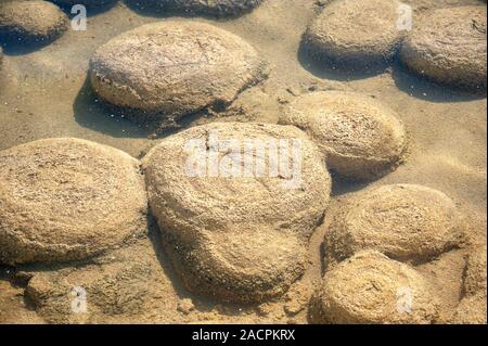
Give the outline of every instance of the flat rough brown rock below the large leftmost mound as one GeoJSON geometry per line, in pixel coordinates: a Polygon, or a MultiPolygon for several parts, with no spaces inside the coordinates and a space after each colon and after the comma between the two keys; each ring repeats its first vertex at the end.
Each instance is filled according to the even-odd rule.
{"type": "Polygon", "coordinates": [[[178,295],[153,246],[141,236],[82,266],[28,272],[25,295],[50,323],[175,323],[178,295]]]}

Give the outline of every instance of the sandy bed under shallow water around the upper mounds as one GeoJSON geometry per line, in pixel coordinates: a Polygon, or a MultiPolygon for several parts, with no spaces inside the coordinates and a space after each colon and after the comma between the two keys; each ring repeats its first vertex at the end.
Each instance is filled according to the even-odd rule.
{"type": "MultiPolygon", "coordinates": [[[[415,0],[410,2],[415,3],[415,0]]],[[[435,0],[416,3],[421,7],[441,5],[435,0]]],[[[442,3],[451,5],[455,1],[442,3]]],[[[299,50],[301,34],[317,11],[312,0],[267,0],[242,17],[197,18],[249,41],[270,62],[271,72],[268,80],[243,92],[231,106],[231,110],[245,112],[192,118],[184,126],[216,119],[277,123],[283,100],[292,100],[310,90],[350,90],[369,94],[398,113],[411,140],[406,164],[371,185],[401,182],[438,189],[459,205],[470,221],[472,235],[486,242],[486,93],[460,92],[421,80],[397,63],[365,75],[317,68],[299,50]]],[[[140,157],[155,145],[166,133],[155,137],[151,128],[119,118],[101,106],[87,84],[87,69],[93,51],[112,37],[167,16],[120,1],[92,13],[86,31],[68,30],[53,43],[34,51],[7,49],[0,71],[0,150],[43,138],[76,137],[140,157]]],[[[333,194],[339,200],[342,194],[363,187],[334,180],[333,194]]],[[[312,238],[313,266],[307,271],[305,281],[320,277],[323,232],[319,229],[312,238]]],[[[453,262],[457,260],[459,258],[453,262]]],[[[176,291],[181,292],[179,284],[175,285],[176,291]]],[[[446,300],[449,299],[455,299],[452,293],[446,293],[446,300]]],[[[218,315],[216,319],[233,320],[222,316],[218,315]]],[[[270,319],[283,320],[277,316],[270,319]]],[[[178,321],[178,317],[174,318],[178,321]]],[[[256,315],[237,320],[240,318],[260,320],[256,315]]],[[[304,319],[300,317],[298,321],[304,319]]]]}

